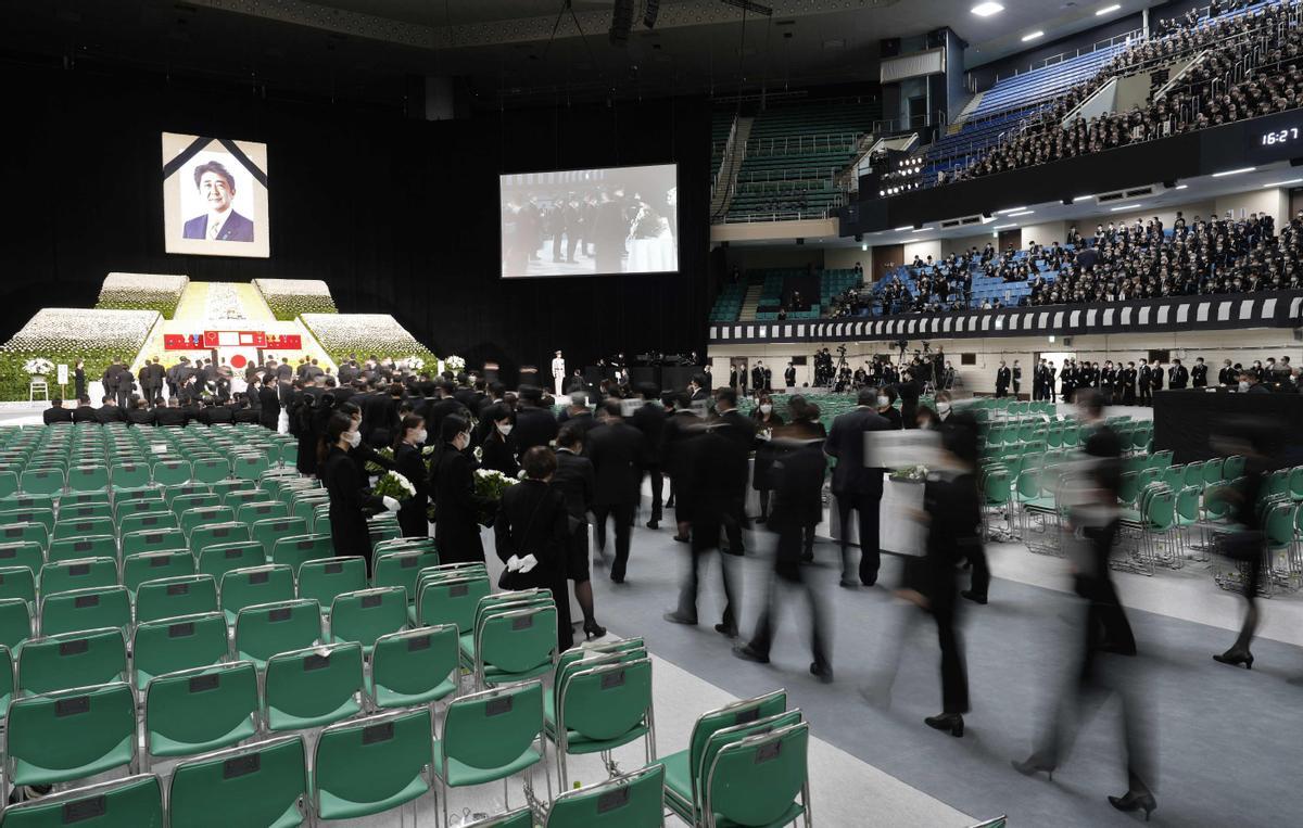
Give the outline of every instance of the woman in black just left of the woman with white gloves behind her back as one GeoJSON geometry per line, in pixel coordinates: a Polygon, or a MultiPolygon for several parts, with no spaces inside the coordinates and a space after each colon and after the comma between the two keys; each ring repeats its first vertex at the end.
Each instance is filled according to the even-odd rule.
{"type": "Polygon", "coordinates": [[[439,560],[444,564],[483,562],[480,514],[489,504],[476,495],[474,471],[463,453],[470,443],[470,422],[460,414],[450,414],[443,418],[442,430],[430,463],[429,484],[439,560]]]}

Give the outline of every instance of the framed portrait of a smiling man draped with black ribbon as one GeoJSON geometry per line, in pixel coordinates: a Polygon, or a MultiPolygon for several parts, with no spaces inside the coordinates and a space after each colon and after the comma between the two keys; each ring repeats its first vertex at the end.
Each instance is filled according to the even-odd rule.
{"type": "Polygon", "coordinates": [[[267,214],[267,145],[163,133],[168,253],[266,259],[267,214]]]}

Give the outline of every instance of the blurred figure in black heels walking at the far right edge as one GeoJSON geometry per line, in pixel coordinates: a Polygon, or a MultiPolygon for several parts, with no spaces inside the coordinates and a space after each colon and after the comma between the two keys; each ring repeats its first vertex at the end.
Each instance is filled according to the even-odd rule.
{"type": "Polygon", "coordinates": [[[1213,659],[1231,667],[1243,664],[1246,669],[1253,669],[1250,644],[1253,643],[1253,633],[1257,630],[1257,591],[1261,586],[1265,557],[1259,495],[1263,491],[1263,480],[1270,470],[1270,457],[1277,450],[1278,437],[1272,423],[1248,418],[1218,426],[1212,436],[1213,449],[1218,454],[1239,454],[1244,458],[1243,474],[1234,483],[1209,491],[1208,497],[1214,501],[1225,500],[1234,509],[1234,519],[1239,529],[1222,538],[1221,551],[1243,564],[1240,594],[1248,604],[1235,643],[1213,659]]]}

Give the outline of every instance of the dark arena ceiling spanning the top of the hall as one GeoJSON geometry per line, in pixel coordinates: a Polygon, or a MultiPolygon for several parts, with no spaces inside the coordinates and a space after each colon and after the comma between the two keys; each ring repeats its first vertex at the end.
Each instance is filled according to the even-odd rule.
{"type": "Polygon", "coordinates": [[[481,102],[753,94],[877,79],[883,38],[950,26],[969,62],[1081,31],[1143,5],[1117,0],[766,0],[771,17],[726,0],[633,0],[625,47],[614,0],[0,0],[0,48],[111,60],[310,89],[401,95],[405,76],[466,79],[481,102]],[[1111,3],[1110,3],[1111,5],[1111,3]]]}

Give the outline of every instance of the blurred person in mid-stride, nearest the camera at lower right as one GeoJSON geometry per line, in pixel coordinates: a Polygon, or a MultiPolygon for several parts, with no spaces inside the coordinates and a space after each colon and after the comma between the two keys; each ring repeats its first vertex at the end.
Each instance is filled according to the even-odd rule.
{"type": "Polygon", "coordinates": [[[1119,811],[1144,811],[1148,820],[1149,812],[1158,805],[1145,781],[1154,779],[1154,768],[1152,739],[1144,732],[1144,697],[1117,681],[1118,673],[1123,670],[1123,661],[1101,657],[1101,654],[1136,654],[1131,625],[1109,577],[1109,553],[1118,535],[1122,449],[1117,434],[1104,424],[1104,400],[1098,392],[1083,389],[1076,394],[1076,401],[1083,428],[1089,431],[1085,440],[1089,462],[1084,470],[1083,486],[1075,492],[1075,504],[1068,513],[1068,529],[1084,559],[1075,564],[1076,594],[1087,601],[1084,646],[1075,686],[1065,689],[1059,695],[1036,751],[1025,762],[1015,760],[1012,764],[1024,776],[1044,771],[1053,779],[1054,769],[1072,749],[1080,720],[1117,694],[1122,702],[1127,792],[1121,797],[1109,797],[1109,803],[1119,811]],[[1089,703],[1092,710],[1078,715],[1083,703],[1089,703]]]}

